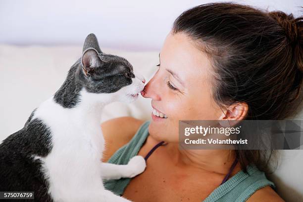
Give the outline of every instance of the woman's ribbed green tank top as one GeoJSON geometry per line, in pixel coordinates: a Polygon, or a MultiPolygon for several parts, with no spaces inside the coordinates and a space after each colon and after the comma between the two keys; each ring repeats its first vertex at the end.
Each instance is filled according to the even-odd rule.
{"type": "MultiPolygon", "coordinates": [[[[130,142],[117,150],[107,162],[127,164],[132,157],[136,156],[149,135],[150,122],[145,121],[130,142]]],[[[103,182],[105,189],[122,196],[130,180],[131,178],[121,178],[103,182]]],[[[203,202],[245,202],[255,191],[267,185],[275,189],[274,183],[266,178],[264,172],[259,171],[254,165],[249,165],[247,173],[239,171],[210,193],[203,202]]]]}

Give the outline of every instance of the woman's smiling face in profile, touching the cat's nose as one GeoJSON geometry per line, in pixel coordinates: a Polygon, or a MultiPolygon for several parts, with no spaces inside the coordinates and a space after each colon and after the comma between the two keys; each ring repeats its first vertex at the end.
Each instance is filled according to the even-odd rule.
{"type": "Polygon", "coordinates": [[[218,120],[222,114],[211,96],[212,67],[206,54],[183,33],[168,34],[159,60],[143,96],[151,98],[152,108],[167,118],[152,113],[149,132],[156,140],[178,143],[179,120],[218,120]]]}

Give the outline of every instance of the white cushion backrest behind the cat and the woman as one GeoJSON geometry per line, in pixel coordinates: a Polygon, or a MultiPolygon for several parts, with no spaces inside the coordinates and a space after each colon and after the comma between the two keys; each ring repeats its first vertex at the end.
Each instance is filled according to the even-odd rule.
{"type": "MultiPolygon", "coordinates": [[[[135,73],[149,81],[156,71],[158,51],[128,52],[102,49],[125,57],[135,73]]],[[[63,83],[67,71],[81,57],[81,46],[9,46],[0,45],[0,142],[21,129],[31,112],[48,99],[63,83]]],[[[302,105],[301,108],[302,109],[302,105]]],[[[111,103],[103,111],[101,121],[131,116],[151,119],[151,100],[139,95],[131,104],[111,103]]],[[[289,119],[303,119],[303,111],[289,119]]],[[[303,201],[303,150],[281,151],[280,166],[270,179],[278,193],[289,202],[303,201]]]]}

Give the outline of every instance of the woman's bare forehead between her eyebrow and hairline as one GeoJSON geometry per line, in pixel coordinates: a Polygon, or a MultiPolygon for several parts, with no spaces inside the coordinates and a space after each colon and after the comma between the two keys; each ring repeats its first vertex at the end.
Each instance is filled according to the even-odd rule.
{"type": "Polygon", "coordinates": [[[168,34],[159,54],[161,66],[180,75],[183,81],[206,79],[211,69],[206,53],[183,34],[168,34]]]}

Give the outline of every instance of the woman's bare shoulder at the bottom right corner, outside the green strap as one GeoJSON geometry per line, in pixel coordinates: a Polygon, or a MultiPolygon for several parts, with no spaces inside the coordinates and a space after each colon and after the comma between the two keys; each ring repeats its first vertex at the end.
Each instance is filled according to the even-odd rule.
{"type": "Polygon", "coordinates": [[[285,202],[270,186],[257,190],[247,202],[285,202]]]}

